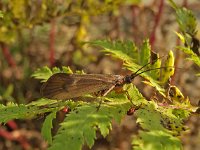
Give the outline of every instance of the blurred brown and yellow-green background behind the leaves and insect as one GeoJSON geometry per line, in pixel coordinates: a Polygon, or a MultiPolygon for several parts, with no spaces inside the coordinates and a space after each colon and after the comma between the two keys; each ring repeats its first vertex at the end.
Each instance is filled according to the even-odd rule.
{"type": "MultiPolygon", "coordinates": [[[[192,10],[199,22],[199,0],[175,2],[192,10]]],[[[161,55],[172,49],[175,67],[181,68],[176,70],[173,84],[193,105],[200,100],[200,78],[195,76],[200,69],[175,50],[181,44],[174,32],[179,29],[174,10],[166,0],[1,0],[0,10],[1,104],[27,104],[40,98],[41,83],[31,74],[43,66],[122,74],[122,62],[105,56],[97,47],[82,44],[96,39],[132,40],[140,46],[149,38],[152,50],[161,55]]],[[[136,84],[145,96],[150,96],[140,80],[136,84]]],[[[12,120],[0,126],[0,149],[46,149],[40,134],[43,120],[12,120]]],[[[186,150],[200,148],[199,120],[192,116],[186,121],[191,130],[180,137],[186,150]]],[[[131,149],[131,137],[137,132],[134,117],[127,116],[121,125],[113,122],[106,139],[99,135],[93,149],[131,149]]]]}

